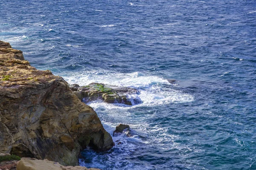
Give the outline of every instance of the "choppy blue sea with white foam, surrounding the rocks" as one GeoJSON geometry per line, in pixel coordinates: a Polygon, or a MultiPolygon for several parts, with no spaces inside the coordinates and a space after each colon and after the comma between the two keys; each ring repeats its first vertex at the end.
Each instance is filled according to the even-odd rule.
{"type": "Polygon", "coordinates": [[[69,83],[140,90],[139,105],[89,103],[133,137],[82,166],[256,169],[255,0],[0,0],[0,40],[69,83]]]}

